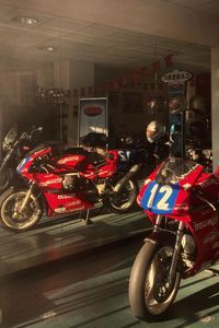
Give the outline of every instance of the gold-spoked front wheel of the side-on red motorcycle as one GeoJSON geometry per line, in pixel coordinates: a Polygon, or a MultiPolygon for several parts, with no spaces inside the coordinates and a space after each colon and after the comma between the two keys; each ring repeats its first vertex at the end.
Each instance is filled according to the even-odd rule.
{"type": "Polygon", "coordinates": [[[42,216],[43,204],[33,194],[22,209],[27,190],[5,191],[1,196],[0,222],[1,225],[14,232],[22,232],[35,225],[42,216]]]}

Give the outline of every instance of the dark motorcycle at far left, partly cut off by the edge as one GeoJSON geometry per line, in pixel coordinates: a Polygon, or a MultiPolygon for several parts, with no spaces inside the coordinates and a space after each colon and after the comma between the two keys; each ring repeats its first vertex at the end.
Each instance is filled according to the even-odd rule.
{"type": "Polygon", "coordinates": [[[19,162],[34,147],[42,130],[42,127],[33,128],[30,132],[19,134],[16,124],[9,130],[2,142],[5,155],[0,162],[0,192],[14,184],[19,162]]]}

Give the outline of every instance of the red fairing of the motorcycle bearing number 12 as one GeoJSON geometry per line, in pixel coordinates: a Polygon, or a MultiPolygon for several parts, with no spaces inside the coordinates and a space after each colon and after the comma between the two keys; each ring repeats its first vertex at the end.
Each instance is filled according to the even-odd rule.
{"type": "MultiPolygon", "coordinates": [[[[159,167],[146,179],[137,200],[140,206],[142,206],[142,201],[147,203],[149,199],[146,199],[147,190],[150,190],[151,184],[155,184],[158,172],[159,167]]],[[[185,177],[182,177],[180,181],[172,185],[171,188],[176,188],[177,190],[174,191],[176,197],[171,211],[168,213],[164,211],[163,213],[162,211],[159,212],[171,220],[184,222],[191,231],[197,246],[196,262],[189,272],[191,276],[195,274],[204,266],[207,266],[208,262],[217,261],[219,257],[219,218],[217,208],[219,175],[217,172],[216,174],[206,173],[201,165],[197,165],[185,177]]],[[[165,185],[163,186],[165,187],[165,185]]],[[[148,194],[149,197],[151,192],[152,189],[148,194]]],[[[146,208],[145,211],[152,224],[154,224],[158,212],[153,208],[151,210],[146,208]]]]}

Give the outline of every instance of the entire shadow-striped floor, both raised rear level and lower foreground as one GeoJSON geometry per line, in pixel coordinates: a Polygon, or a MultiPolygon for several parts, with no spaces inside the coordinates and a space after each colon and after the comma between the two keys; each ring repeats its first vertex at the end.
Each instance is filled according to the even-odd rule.
{"type": "Polygon", "coordinates": [[[0,230],[0,327],[219,327],[219,277],[206,271],[182,281],[165,321],[131,314],[130,268],[151,226],[141,211],[94,215],[89,226],[47,220],[21,234],[0,230]]]}

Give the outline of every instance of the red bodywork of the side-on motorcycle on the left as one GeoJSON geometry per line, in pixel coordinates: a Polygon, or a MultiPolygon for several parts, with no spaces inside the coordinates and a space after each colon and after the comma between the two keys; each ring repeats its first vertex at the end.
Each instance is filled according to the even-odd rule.
{"type": "Polygon", "coordinates": [[[66,175],[82,181],[108,179],[116,173],[117,164],[117,151],[110,151],[106,161],[95,166],[89,161],[85,152],[51,156],[51,148],[42,145],[20,163],[18,172],[42,190],[47,203],[47,215],[50,216],[88,210],[94,206],[94,202],[90,202],[84,196],[83,185],[81,190],[69,191],[64,188],[66,175]]]}

